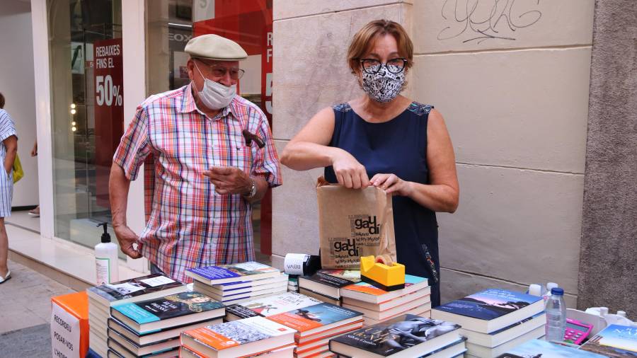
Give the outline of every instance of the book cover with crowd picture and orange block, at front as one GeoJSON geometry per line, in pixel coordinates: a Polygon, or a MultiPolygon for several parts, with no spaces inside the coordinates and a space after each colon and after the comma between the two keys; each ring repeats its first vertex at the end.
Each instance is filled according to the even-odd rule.
{"type": "Polygon", "coordinates": [[[291,328],[268,321],[263,317],[246,318],[218,325],[207,325],[195,330],[187,330],[183,335],[214,348],[224,350],[271,337],[294,333],[291,328]]]}

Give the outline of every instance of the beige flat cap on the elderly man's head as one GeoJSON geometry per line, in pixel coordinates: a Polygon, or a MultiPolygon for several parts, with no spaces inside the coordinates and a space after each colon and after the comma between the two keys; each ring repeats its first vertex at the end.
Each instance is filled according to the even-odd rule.
{"type": "Polygon", "coordinates": [[[184,51],[190,54],[190,57],[218,61],[240,61],[248,58],[248,54],[238,43],[214,34],[191,38],[184,51]]]}

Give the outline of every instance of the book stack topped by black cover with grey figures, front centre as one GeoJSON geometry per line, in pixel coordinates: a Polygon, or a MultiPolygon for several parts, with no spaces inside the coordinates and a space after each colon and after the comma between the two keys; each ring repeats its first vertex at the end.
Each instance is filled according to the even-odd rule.
{"type": "Polygon", "coordinates": [[[461,357],[466,352],[459,325],[405,315],[335,337],[331,352],[356,358],[461,357]]]}

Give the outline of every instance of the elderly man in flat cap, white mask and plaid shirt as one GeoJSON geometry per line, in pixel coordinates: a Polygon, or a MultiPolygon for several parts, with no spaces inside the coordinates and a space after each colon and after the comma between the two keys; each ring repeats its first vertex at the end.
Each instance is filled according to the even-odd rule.
{"type": "Polygon", "coordinates": [[[268,120],[236,95],[246,52],[217,35],[194,37],[185,52],[190,83],[139,105],[109,189],[122,252],[190,282],[189,268],[254,260],[251,205],[282,182],[268,120]],[[137,236],[126,204],[144,161],[147,225],[137,236]]]}

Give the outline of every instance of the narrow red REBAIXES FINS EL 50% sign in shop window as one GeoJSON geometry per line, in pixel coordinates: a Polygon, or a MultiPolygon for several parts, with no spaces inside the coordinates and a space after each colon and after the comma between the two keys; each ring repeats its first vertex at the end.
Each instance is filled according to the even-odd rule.
{"type": "Polygon", "coordinates": [[[122,39],[93,43],[95,81],[95,164],[98,205],[110,207],[108,176],[124,132],[122,39]]]}

